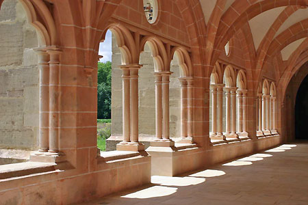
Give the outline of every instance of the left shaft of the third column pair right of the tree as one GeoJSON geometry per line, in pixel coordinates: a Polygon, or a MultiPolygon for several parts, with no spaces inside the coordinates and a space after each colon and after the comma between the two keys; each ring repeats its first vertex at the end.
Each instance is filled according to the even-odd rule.
{"type": "Polygon", "coordinates": [[[185,78],[179,78],[181,83],[181,137],[188,137],[188,88],[185,78]]]}

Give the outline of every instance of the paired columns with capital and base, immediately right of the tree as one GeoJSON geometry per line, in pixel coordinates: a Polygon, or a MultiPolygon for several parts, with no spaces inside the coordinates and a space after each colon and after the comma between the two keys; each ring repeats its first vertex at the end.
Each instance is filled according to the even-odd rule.
{"type": "Polygon", "coordinates": [[[138,139],[138,72],[141,66],[131,64],[120,66],[123,82],[123,141],[116,150],[141,151],[144,145],[138,139]]]}

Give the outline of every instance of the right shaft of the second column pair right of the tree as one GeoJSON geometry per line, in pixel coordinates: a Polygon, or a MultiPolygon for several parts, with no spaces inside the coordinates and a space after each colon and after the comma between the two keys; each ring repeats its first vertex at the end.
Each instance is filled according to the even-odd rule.
{"type": "Polygon", "coordinates": [[[171,141],[169,136],[169,77],[172,72],[162,72],[163,141],[171,141]]]}

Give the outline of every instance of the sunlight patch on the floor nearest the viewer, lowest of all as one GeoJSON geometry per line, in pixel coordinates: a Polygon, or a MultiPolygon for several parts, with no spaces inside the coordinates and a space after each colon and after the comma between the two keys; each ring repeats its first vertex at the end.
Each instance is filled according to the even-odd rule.
{"type": "Polygon", "coordinates": [[[154,186],[154,187],[149,187],[147,189],[142,189],[140,191],[136,191],[134,193],[129,193],[121,197],[136,198],[136,199],[149,199],[153,197],[163,197],[166,195],[171,195],[175,192],[177,192],[177,188],[174,188],[174,187],[154,186]]]}

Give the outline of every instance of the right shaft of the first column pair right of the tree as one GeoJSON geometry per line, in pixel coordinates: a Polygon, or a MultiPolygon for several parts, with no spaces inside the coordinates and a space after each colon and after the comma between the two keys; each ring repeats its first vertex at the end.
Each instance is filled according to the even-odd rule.
{"type": "Polygon", "coordinates": [[[131,144],[138,144],[138,72],[140,66],[130,66],[131,82],[131,144]]]}

